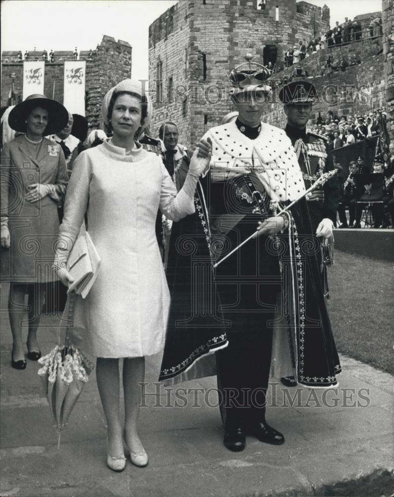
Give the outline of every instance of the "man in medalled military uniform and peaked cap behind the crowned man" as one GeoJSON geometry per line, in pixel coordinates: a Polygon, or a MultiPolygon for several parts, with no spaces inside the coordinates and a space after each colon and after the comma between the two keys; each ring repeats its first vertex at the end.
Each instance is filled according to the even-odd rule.
{"type": "MultiPolygon", "coordinates": [[[[300,71],[297,71],[297,74],[299,73],[300,71]]],[[[334,169],[327,139],[306,129],[312,105],[317,99],[316,88],[300,76],[280,90],[279,99],[284,104],[283,109],[287,116],[285,132],[298,158],[305,189],[308,189],[321,174],[334,169]]],[[[310,193],[307,200],[315,236],[322,239],[330,238],[339,202],[336,176],[310,193]]],[[[293,376],[282,377],[281,381],[286,386],[297,384],[293,376]]]]}

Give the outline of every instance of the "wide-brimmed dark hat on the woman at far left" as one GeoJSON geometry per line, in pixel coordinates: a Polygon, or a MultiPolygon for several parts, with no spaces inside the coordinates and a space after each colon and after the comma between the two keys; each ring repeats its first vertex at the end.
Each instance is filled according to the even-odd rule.
{"type": "Polygon", "coordinates": [[[26,119],[30,112],[35,107],[41,107],[48,110],[48,125],[43,133],[46,135],[53,135],[63,129],[68,122],[68,112],[60,102],[52,100],[45,95],[29,95],[18,103],[11,110],[8,116],[8,124],[10,128],[19,133],[26,133],[26,119]]]}

